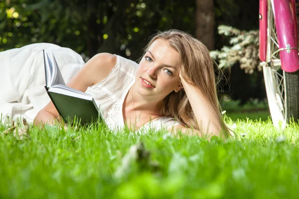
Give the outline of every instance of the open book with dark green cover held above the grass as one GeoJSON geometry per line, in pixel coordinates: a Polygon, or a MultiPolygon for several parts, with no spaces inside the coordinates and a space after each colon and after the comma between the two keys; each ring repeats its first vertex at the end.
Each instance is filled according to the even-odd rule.
{"type": "Polygon", "coordinates": [[[46,86],[45,89],[66,123],[88,124],[101,119],[99,108],[93,97],[67,87],[52,52],[43,50],[46,86]]]}

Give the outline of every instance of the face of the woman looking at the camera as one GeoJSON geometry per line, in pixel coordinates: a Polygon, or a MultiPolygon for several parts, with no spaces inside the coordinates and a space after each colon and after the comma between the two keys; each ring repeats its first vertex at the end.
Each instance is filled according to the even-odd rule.
{"type": "Polygon", "coordinates": [[[179,90],[178,62],[179,54],[168,41],[156,39],[139,63],[134,90],[152,100],[162,100],[179,90]]]}

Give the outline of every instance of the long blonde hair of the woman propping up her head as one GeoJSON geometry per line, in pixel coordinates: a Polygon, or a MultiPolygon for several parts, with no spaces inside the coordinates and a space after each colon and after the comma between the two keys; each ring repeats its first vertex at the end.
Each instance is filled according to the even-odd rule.
{"type": "MultiPolygon", "coordinates": [[[[179,53],[178,66],[182,72],[182,77],[188,84],[199,88],[206,96],[206,99],[212,104],[217,115],[219,115],[219,119],[223,123],[223,130],[227,132],[228,128],[223,122],[217,98],[213,60],[209,55],[207,47],[186,32],[169,29],[153,35],[148,45],[144,48],[144,53],[149,50],[149,46],[156,39],[168,41],[169,45],[179,53]]],[[[175,117],[182,125],[188,128],[199,130],[191,104],[183,89],[178,93],[171,92],[164,98],[160,113],[163,116],[175,117]]]]}

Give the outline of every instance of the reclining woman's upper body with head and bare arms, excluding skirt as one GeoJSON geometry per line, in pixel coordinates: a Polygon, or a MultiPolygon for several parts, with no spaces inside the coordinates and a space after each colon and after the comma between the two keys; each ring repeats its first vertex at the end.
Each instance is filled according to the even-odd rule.
{"type": "MultiPolygon", "coordinates": [[[[128,124],[133,131],[153,125],[200,136],[226,138],[229,133],[220,114],[209,51],[179,30],[153,36],[139,64],[97,54],[67,86],[91,94],[111,129],[128,124]]],[[[49,102],[34,123],[52,123],[57,117],[49,102]]]]}

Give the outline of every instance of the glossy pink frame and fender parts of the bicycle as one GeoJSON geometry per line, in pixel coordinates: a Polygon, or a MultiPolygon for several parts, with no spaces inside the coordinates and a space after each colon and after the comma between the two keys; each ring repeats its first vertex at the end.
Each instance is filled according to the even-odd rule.
{"type": "MultiPolygon", "coordinates": [[[[299,70],[298,33],[295,0],[271,0],[277,30],[282,70],[292,73],[299,70]]],[[[268,0],[260,0],[260,53],[267,62],[267,7],[268,0]]],[[[269,61],[269,60],[268,60],[269,61]]]]}

